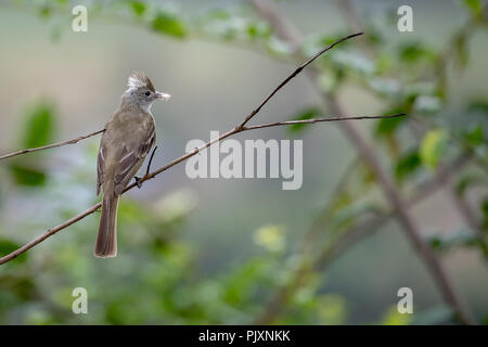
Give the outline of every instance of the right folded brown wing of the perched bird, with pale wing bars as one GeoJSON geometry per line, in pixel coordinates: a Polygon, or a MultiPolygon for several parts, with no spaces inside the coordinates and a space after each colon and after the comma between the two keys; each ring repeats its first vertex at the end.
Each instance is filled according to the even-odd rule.
{"type": "MultiPolygon", "coordinates": [[[[152,120],[152,119],[151,119],[152,120]]],[[[121,194],[130,180],[138,174],[144,158],[156,141],[156,129],[154,121],[145,123],[139,131],[139,141],[133,145],[123,145],[119,160],[114,175],[115,193],[121,194]]]]}

